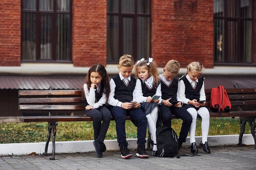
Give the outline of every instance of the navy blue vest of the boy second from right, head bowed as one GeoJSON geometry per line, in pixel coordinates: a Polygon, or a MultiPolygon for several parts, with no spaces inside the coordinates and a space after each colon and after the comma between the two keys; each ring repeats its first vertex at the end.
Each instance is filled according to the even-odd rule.
{"type": "Polygon", "coordinates": [[[172,82],[169,85],[167,85],[160,78],[160,83],[161,83],[162,99],[167,100],[169,98],[172,98],[172,99],[169,100],[170,102],[177,101],[177,92],[178,92],[179,80],[175,78],[175,79],[172,80],[172,82]]]}

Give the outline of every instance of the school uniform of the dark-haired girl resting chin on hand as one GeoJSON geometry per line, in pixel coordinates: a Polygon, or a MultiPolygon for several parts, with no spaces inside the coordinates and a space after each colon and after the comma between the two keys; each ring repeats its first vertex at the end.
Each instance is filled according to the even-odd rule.
{"type": "Polygon", "coordinates": [[[102,87],[101,84],[99,84],[96,89],[90,88],[90,90],[88,90],[87,84],[84,84],[85,115],[93,118],[94,140],[97,139],[99,142],[104,142],[108,126],[111,121],[111,113],[104,106],[106,103],[106,97],[103,91],[104,87],[102,87]],[[93,106],[93,109],[86,111],[85,107],[87,105],[93,106]]]}

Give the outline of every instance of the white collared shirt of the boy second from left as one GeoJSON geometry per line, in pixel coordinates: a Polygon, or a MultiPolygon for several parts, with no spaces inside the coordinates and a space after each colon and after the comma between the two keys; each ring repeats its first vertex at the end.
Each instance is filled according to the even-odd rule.
{"type": "MultiPolygon", "coordinates": [[[[124,78],[124,77],[122,77],[120,72],[119,72],[119,77],[120,77],[121,81],[124,80],[125,84],[127,84],[127,85],[128,85],[128,82],[131,81],[131,77],[124,78]]],[[[109,94],[109,97],[108,97],[108,104],[112,105],[112,106],[121,107],[123,102],[120,102],[119,100],[114,98],[116,83],[114,82],[113,79],[111,79],[109,84],[110,84],[110,94],[109,94]]],[[[133,96],[134,96],[134,92],[133,92],[133,96]]]]}

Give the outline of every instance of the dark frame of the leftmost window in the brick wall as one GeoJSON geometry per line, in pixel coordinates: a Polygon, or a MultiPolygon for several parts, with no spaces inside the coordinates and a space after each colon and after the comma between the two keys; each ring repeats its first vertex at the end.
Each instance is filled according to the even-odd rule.
{"type": "Polygon", "coordinates": [[[29,62],[44,62],[44,63],[73,63],[72,60],[72,37],[73,37],[73,17],[72,17],[72,5],[73,0],[70,0],[70,11],[57,11],[57,0],[53,0],[53,11],[47,11],[47,10],[39,10],[39,0],[36,0],[36,9],[23,9],[22,8],[23,0],[20,2],[20,11],[21,11],[21,17],[20,17],[20,62],[21,63],[29,63],[29,62]],[[23,27],[23,13],[35,13],[35,42],[36,42],[36,52],[35,52],[35,60],[32,59],[22,59],[22,40],[23,40],[23,34],[22,34],[22,27],[23,27]],[[52,59],[40,59],[41,55],[41,17],[40,15],[46,15],[51,14],[52,15],[52,34],[56,35],[57,33],[57,26],[56,26],[56,20],[57,20],[57,14],[70,14],[70,60],[56,60],[57,59],[57,37],[52,36],[52,59]]]}

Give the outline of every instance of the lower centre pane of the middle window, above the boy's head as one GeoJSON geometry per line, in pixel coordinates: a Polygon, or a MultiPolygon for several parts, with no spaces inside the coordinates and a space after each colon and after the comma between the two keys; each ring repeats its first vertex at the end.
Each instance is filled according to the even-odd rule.
{"type": "Polygon", "coordinates": [[[133,18],[123,18],[122,22],[122,54],[130,54],[133,56],[133,18]]]}

